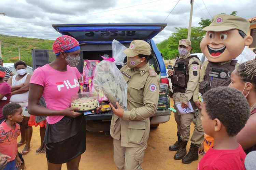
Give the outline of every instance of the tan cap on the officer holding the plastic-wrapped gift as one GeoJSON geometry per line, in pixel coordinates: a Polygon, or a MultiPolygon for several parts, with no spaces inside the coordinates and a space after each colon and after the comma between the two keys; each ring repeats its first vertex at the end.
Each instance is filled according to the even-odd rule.
{"type": "Polygon", "coordinates": [[[130,47],[123,52],[127,55],[127,57],[135,57],[136,55],[150,55],[150,45],[143,40],[134,40],[131,41],[130,47]]]}

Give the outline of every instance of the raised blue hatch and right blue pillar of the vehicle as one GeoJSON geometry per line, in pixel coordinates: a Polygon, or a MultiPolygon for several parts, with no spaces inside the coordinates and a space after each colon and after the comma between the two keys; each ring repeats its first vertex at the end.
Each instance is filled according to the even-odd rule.
{"type": "Polygon", "coordinates": [[[153,51],[159,64],[161,77],[167,77],[165,64],[153,37],[162,31],[167,24],[163,23],[108,23],[108,24],[53,24],[53,28],[62,35],[69,35],[80,44],[111,44],[113,39],[120,43],[130,43],[134,39],[151,41],[153,51]],[[127,31],[129,30],[129,31],[127,31]],[[139,32],[138,35],[126,36],[127,32],[139,32]],[[112,34],[112,35],[111,35],[112,34]],[[123,34],[123,35],[122,35],[123,34]],[[126,34],[126,35],[124,35],[126,34]],[[87,36],[86,36],[87,35],[87,36]],[[101,35],[101,36],[100,36],[101,35]]]}

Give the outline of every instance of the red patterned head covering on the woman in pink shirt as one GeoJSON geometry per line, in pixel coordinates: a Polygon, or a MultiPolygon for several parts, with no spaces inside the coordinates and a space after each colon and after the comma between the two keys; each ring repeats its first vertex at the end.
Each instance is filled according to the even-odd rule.
{"type": "Polygon", "coordinates": [[[58,37],[53,43],[53,52],[56,55],[59,55],[61,51],[72,52],[79,49],[79,42],[68,35],[58,37]]]}

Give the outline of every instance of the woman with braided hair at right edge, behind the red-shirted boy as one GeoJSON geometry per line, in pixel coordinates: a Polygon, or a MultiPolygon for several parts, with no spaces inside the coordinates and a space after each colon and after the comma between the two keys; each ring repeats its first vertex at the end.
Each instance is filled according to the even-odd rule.
{"type": "Polygon", "coordinates": [[[251,108],[250,118],[237,135],[237,141],[248,154],[256,150],[256,60],[239,65],[231,74],[229,87],[242,91],[251,108]]]}

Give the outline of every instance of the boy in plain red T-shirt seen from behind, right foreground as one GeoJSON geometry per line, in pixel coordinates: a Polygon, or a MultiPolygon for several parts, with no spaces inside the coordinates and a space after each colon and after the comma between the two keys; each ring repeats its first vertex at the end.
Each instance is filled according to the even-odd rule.
{"type": "Polygon", "coordinates": [[[245,126],[250,108],[237,89],[218,87],[203,95],[202,126],[214,138],[214,146],[200,160],[197,170],[245,170],[246,154],[236,140],[245,126]]]}

